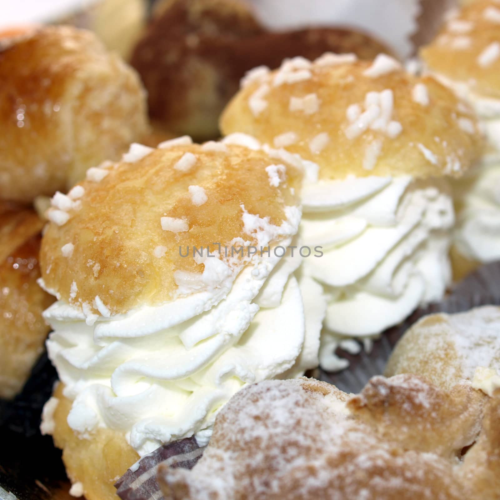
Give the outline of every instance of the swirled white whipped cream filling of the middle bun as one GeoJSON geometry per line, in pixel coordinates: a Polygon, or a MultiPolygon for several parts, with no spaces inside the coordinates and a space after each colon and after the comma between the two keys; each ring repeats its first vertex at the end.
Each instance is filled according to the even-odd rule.
{"type": "Polygon", "coordinates": [[[323,247],[303,264],[328,300],[320,364],[338,369],[332,351],[342,337],[376,335],[442,298],[452,200],[435,179],[352,176],[307,183],[302,203],[300,236],[323,247]]]}

